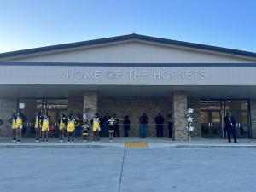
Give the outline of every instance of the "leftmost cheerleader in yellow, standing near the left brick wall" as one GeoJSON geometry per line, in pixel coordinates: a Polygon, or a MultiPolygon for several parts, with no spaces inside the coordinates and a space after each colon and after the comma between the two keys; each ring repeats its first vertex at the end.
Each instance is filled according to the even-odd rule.
{"type": "Polygon", "coordinates": [[[14,116],[9,119],[9,122],[12,123],[13,142],[16,141],[17,144],[20,144],[21,130],[24,121],[26,121],[26,117],[20,111],[18,111],[18,113],[14,113],[14,116]]]}

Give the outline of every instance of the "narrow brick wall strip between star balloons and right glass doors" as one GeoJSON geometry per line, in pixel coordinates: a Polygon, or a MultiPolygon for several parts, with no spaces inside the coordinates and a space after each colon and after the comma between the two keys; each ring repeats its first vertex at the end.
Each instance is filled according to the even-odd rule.
{"type": "Polygon", "coordinates": [[[193,108],[193,126],[195,131],[192,133],[191,137],[201,138],[201,110],[200,110],[200,99],[195,97],[188,98],[188,108],[193,108]]]}

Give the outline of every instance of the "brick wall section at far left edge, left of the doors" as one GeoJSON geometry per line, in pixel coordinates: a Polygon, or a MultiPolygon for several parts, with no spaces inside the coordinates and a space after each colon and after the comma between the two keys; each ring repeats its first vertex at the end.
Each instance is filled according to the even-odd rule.
{"type": "Polygon", "coordinates": [[[0,127],[0,137],[11,137],[11,125],[9,119],[17,111],[16,98],[0,98],[0,119],[3,120],[3,125],[0,127]]]}

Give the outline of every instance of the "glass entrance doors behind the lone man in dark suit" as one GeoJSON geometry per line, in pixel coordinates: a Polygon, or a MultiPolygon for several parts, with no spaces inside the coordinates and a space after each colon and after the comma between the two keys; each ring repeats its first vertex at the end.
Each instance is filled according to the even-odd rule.
{"type": "Polygon", "coordinates": [[[226,137],[224,117],[228,112],[236,119],[236,136],[251,137],[249,111],[247,100],[201,101],[202,137],[226,137]]]}

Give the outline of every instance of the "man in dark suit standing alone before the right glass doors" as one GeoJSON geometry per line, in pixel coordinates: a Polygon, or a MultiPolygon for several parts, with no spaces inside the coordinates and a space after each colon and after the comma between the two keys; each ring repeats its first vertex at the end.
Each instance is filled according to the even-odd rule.
{"type": "Polygon", "coordinates": [[[232,116],[231,113],[227,113],[224,117],[225,129],[228,134],[229,143],[231,143],[231,135],[234,138],[234,142],[236,143],[236,119],[232,116]]]}

